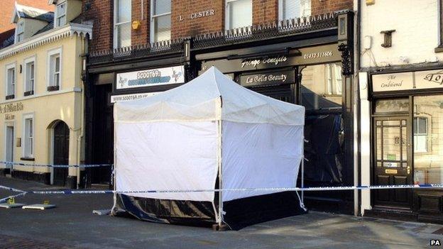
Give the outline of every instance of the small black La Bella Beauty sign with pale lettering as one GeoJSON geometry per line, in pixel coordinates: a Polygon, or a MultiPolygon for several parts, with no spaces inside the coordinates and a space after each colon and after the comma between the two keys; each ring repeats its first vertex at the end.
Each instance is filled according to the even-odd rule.
{"type": "Polygon", "coordinates": [[[240,84],[244,87],[273,84],[291,84],[295,81],[293,70],[268,72],[264,74],[248,74],[240,76],[240,84]]]}

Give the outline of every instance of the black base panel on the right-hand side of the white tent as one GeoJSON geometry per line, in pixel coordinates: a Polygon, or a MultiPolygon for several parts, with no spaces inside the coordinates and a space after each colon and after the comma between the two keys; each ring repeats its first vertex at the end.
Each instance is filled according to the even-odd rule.
{"type": "Polygon", "coordinates": [[[224,222],[232,230],[240,230],[257,223],[273,221],[279,218],[307,214],[300,207],[295,192],[279,192],[256,197],[225,201],[224,222]]]}

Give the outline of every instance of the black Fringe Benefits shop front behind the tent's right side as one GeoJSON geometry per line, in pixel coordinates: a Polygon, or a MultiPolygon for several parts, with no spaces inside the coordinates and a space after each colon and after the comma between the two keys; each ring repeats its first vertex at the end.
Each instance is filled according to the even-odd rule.
{"type": "MultiPolygon", "coordinates": [[[[298,186],[336,187],[354,184],[351,77],[343,72],[337,30],[318,31],[317,38],[284,39],[204,48],[195,41],[197,74],[215,66],[241,86],[274,99],[305,106],[304,181],[298,186]],[[201,48],[200,48],[201,47],[201,48]]],[[[241,40],[240,40],[241,41],[241,40]]],[[[305,192],[309,209],[354,212],[352,192],[305,192]]]]}

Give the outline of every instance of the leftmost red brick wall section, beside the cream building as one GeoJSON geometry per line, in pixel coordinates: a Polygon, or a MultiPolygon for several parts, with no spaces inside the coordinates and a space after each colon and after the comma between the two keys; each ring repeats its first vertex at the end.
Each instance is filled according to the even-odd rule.
{"type": "Polygon", "coordinates": [[[108,50],[112,48],[114,12],[113,0],[84,0],[83,19],[94,21],[89,50],[108,50]]]}

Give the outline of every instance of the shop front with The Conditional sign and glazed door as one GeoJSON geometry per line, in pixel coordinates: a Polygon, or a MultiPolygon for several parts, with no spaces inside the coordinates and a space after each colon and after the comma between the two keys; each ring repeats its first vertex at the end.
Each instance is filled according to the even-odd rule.
{"type": "MultiPolygon", "coordinates": [[[[371,185],[443,182],[442,84],[441,68],[371,74],[371,185]]],[[[441,223],[442,198],[441,189],[374,190],[364,213],[441,223]]]]}

